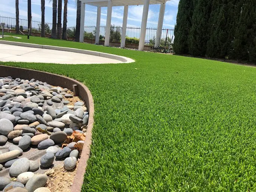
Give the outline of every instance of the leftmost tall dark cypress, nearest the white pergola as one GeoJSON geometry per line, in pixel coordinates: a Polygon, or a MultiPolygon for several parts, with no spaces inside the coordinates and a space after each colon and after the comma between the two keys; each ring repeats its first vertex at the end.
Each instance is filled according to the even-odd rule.
{"type": "Polygon", "coordinates": [[[180,0],[177,21],[174,29],[174,52],[177,54],[188,53],[188,35],[193,15],[193,0],[180,0]]]}

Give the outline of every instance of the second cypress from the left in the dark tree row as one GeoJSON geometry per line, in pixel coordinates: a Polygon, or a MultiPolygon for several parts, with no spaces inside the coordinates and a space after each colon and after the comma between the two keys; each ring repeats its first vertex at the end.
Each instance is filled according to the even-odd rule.
{"type": "Polygon", "coordinates": [[[189,30],[189,54],[205,56],[207,41],[209,40],[209,17],[211,0],[195,0],[192,16],[192,26],[189,30]]]}

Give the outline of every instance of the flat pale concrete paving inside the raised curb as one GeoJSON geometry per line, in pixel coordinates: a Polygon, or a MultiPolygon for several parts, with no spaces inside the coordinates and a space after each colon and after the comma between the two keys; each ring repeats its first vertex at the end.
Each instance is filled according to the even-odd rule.
{"type": "Polygon", "coordinates": [[[116,59],[60,50],[0,44],[0,61],[43,62],[59,64],[122,63],[116,59]]]}

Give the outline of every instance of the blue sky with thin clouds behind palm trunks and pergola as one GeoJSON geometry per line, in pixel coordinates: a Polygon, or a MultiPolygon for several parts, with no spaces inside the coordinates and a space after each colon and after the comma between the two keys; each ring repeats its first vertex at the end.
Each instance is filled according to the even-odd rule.
{"type": "MultiPolygon", "coordinates": [[[[41,20],[41,0],[31,0],[32,2],[32,20],[41,20]]],[[[165,17],[163,27],[173,28],[176,22],[176,15],[178,11],[179,0],[171,0],[166,3],[165,17]]],[[[62,3],[62,17],[63,17],[62,3]]],[[[46,0],[45,2],[45,21],[52,23],[52,2],[46,0]]],[[[96,11],[97,8],[85,5],[85,25],[96,25],[96,11]]],[[[154,27],[158,18],[157,6],[151,5],[149,7],[148,26],[154,27]]],[[[159,8],[158,8],[159,9],[159,8]]],[[[27,0],[19,0],[20,18],[27,18],[27,0]]],[[[129,6],[127,26],[140,26],[142,19],[143,6],[129,6]]],[[[0,0],[0,15],[15,17],[15,0],[0,0]]],[[[101,10],[101,25],[106,24],[107,8],[101,10]]],[[[111,24],[122,26],[123,7],[113,7],[111,24]]],[[[76,5],[75,0],[69,0],[68,3],[68,26],[75,26],[76,24],[76,5]]]]}

